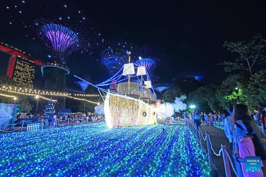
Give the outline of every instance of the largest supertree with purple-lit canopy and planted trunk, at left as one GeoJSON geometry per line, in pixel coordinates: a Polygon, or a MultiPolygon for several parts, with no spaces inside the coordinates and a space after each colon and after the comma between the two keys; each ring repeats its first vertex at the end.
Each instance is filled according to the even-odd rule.
{"type": "Polygon", "coordinates": [[[23,25],[37,34],[49,52],[50,60],[41,68],[42,87],[63,91],[65,74],[69,73],[68,55],[79,49],[91,53],[99,40],[97,24],[83,10],[62,1],[15,0],[15,3],[23,25]]]}

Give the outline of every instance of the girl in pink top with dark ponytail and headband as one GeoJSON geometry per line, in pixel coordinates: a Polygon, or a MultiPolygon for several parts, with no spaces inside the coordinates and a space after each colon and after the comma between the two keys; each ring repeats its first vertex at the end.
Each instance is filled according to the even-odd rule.
{"type": "MultiPolygon", "coordinates": [[[[233,158],[241,163],[242,171],[244,177],[263,177],[263,172],[247,172],[245,170],[245,157],[247,156],[260,156],[261,160],[266,159],[266,152],[262,144],[260,143],[256,134],[253,133],[250,123],[242,120],[238,120],[234,124],[234,132],[237,136],[240,136],[242,139],[238,143],[239,153],[234,152],[233,158]],[[256,149],[255,149],[256,146],[256,149]]],[[[261,167],[263,167],[262,162],[261,167]]]]}

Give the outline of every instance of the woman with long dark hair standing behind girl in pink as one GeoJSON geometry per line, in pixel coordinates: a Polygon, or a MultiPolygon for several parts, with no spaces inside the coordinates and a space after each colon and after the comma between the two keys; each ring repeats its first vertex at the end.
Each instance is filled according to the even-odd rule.
{"type": "MultiPolygon", "coordinates": [[[[238,143],[241,140],[241,137],[237,136],[235,134],[235,132],[233,131],[234,130],[234,124],[238,120],[242,120],[243,122],[246,121],[246,122],[250,123],[252,130],[253,130],[253,133],[255,133],[257,135],[257,137],[259,138],[259,140],[260,140],[261,144],[263,144],[263,146],[266,145],[266,139],[265,139],[266,136],[260,130],[258,125],[252,120],[248,106],[244,105],[244,104],[237,104],[234,106],[233,116],[232,116],[232,119],[229,121],[229,128],[232,129],[232,134],[233,134],[233,150],[239,151],[238,143]]],[[[264,149],[265,149],[265,147],[264,147],[264,149]]],[[[265,165],[264,162],[263,162],[263,164],[265,165]]],[[[242,166],[237,161],[235,161],[235,169],[238,172],[238,177],[242,177],[243,176],[242,166]]],[[[265,170],[265,169],[263,169],[263,170],[265,170]]]]}

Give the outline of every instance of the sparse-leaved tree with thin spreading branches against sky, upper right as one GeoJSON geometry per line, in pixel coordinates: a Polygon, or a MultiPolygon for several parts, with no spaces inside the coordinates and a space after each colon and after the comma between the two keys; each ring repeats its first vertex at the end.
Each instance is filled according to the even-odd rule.
{"type": "Polygon", "coordinates": [[[235,62],[225,61],[218,63],[218,65],[227,65],[225,68],[226,72],[233,70],[248,70],[250,76],[253,74],[253,68],[257,64],[265,61],[265,44],[266,40],[261,38],[260,34],[256,34],[252,40],[238,41],[238,42],[227,42],[225,41],[224,47],[231,52],[236,52],[240,56],[235,59],[235,62]]]}

